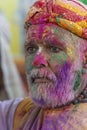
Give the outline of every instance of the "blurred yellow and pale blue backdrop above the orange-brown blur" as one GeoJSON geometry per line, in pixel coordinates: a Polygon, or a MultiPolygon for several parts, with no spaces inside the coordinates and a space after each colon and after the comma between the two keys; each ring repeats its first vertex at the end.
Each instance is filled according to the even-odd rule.
{"type": "Polygon", "coordinates": [[[23,56],[25,36],[23,24],[27,10],[35,0],[0,0],[0,10],[7,17],[11,30],[11,52],[23,56]]]}

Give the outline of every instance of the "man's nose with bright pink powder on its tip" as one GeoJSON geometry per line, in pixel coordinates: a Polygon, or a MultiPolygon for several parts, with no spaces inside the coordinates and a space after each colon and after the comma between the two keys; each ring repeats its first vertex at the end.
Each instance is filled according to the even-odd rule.
{"type": "Polygon", "coordinates": [[[47,67],[48,66],[48,56],[43,53],[36,54],[33,60],[33,66],[35,67],[47,67]]]}

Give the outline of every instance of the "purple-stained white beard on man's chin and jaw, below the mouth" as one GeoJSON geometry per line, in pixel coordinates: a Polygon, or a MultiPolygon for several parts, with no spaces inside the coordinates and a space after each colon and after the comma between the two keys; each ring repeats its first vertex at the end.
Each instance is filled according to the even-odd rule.
{"type": "Polygon", "coordinates": [[[56,86],[56,83],[33,83],[30,86],[32,100],[41,107],[56,108],[70,103],[74,99],[74,92],[64,91],[64,87],[56,86]]]}

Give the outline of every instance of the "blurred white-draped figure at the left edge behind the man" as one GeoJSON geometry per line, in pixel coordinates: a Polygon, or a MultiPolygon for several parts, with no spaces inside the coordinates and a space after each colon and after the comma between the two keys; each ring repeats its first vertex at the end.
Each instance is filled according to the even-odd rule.
{"type": "Polygon", "coordinates": [[[10,52],[10,27],[0,11],[0,100],[25,97],[25,89],[10,52]]]}

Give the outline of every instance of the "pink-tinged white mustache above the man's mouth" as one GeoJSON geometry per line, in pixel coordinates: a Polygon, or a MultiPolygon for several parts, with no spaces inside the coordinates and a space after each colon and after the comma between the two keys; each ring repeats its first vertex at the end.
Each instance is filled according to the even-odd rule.
{"type": "Polygon", "coordinates": [[[30,72],[30,77],[32,79],[35,79],[35,78],[46,78],[50,81],[53,81],[53,82],[56,82],[57,81],[57,78],[55,76],[55,74],[47,69],[47,68],[41,68],[41,69],[33,69],[31,72],[30,72]]]}

